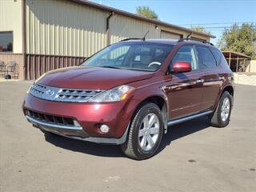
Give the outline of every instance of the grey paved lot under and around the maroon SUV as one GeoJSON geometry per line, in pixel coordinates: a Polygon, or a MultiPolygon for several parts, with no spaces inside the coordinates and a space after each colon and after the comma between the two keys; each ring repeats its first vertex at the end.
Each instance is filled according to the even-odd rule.
{"type": "Polygon", "coordinates": [[[118,146],[46,137],[26,122],[30,82],[0,83],[0,191],[256,191],[256,87],[236,86],[226,128],[171,126],[153,158],[118,146]]]}

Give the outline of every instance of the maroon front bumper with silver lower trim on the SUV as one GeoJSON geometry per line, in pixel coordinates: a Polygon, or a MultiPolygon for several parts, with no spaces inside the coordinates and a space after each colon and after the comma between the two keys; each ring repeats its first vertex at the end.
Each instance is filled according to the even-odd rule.
{"type": "Polygon", "coordinates": [[[26,119],[41,130],[88,142],[122,144],[126,141],[128,126],[134,110],[129,101],[113,103],[51,102],[26,94],[23,111],[26,119]],[[26,114],[26,110],[72,118],[79,126],[65,126],[41,121],[26,114]],[[104,134],[99,126],[105,124],[110,131],[104,134]]]}

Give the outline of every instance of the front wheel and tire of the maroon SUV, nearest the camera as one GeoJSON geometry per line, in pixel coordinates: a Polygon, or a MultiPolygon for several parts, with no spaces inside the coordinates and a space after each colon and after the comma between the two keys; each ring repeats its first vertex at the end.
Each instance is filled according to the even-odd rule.
{"type": "Polygon", "coordinates": [[[128,158],[136,160],[150,158],[158,150],[158,146],[162,141],[162,134],[163,120],[161,110],[154,103],[147,103],[134,115],[126,142],[121,146],[122,151],[128,158]],[[148,123],[145,123],[146,119],[148,119],[148,123]],[[154,122],[152,127],[150,122],[154,122]]]}

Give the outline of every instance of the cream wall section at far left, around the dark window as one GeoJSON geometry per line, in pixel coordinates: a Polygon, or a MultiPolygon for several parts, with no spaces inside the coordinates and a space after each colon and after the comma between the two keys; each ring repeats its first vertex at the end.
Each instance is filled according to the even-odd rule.
{"type": "Polygon", "coordinates": [[[22,53],[22,1],[0,0],[0,31],[13,31],[14,53],[22,53]]]}

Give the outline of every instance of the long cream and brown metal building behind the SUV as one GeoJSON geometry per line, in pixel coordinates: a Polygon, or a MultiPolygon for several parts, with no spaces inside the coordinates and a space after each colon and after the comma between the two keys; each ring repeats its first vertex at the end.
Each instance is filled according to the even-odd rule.
{"type": "Polygon", "coordinates": [[[0,1],[0,61],[18,62],[19,78],[75,66],[123,38],[199,38],[210,34],[85,0],[0,1]]]}

